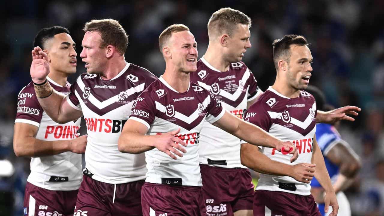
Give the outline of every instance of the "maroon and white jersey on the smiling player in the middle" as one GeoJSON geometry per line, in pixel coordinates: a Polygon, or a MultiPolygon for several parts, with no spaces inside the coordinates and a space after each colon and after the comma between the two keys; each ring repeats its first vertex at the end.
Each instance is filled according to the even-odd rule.
{"type": "Polygon", "coordinates": [[[204,119],[214,123],[225,110],[209,91],[190,82],[184,93],[174,90],[162,76],[136,99],[129,119],[147,126],[147,135],[160,135],[180,128],[176,135],[187,143],[187,153],[177,160],[154,148],[146,151],[146,181],[156,184],[202,186],[199,137],[204,119]]]}

